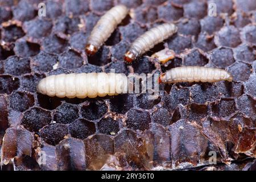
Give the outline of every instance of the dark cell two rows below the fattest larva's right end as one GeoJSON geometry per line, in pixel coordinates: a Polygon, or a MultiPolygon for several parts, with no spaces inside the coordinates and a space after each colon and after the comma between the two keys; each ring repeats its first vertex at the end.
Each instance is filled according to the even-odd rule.
{"type": "Polygon", "coordinates": [[[145,110],[131,109],[127,113],[126,126],[130,129],[144,131],[150,122],[150,114],[145,110]]]}

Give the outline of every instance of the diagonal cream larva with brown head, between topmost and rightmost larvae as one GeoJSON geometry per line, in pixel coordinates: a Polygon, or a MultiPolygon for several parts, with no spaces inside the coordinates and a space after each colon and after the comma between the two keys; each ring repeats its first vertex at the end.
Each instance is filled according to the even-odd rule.
{"type": "Polygon", "coordinates": [[[171,35],[177,32],[177,27],[172,23],[164,23],[157,27],[151,28],[139,38],[137,38],[130,46],[128,51],[123,56],[123,59],[128,63],[131,63],[136,57],[147,52],[153,48],[156,44],[163,42],[171,35]]]}

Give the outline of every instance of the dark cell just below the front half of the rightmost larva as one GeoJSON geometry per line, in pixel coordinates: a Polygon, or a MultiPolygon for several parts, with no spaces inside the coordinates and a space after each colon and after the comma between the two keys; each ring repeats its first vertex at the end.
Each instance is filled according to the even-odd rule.
{"type": "Polygon", "coordinates": [[[168,109],[175,110],[177,105],[187,105],[189,102],[189,89],[187,88],[177,88],[176,86],[172,86],[169,95],[164,95],[164,103],[168,109]]]}

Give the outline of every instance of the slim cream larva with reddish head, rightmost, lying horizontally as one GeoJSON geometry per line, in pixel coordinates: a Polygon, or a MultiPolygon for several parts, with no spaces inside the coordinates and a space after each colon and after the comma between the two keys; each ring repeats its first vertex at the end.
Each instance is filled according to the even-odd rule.
{"type": "Polygon", "coordinates": [[[175,82],[217,82],[221,80],[232,81],[233,78],[224,69],[207,67],[177,67],[172,68],[159,77],[159,83],[175,82]]]}

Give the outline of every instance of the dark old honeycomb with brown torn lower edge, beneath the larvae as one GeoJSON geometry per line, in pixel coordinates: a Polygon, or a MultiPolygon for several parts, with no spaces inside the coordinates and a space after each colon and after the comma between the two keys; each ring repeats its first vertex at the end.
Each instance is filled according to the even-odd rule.
{"type": "Polygon", "coordinates": [[[0,23],[2,170],[255,169],[255,0],[0,0],[0,23]],[[38,16],[40,2],[46,17],[38,16]],[[118,3],[130,14],[87,57],[94,24],[118,3]],[[208,16],[211,3],[216,17],[208,16]],[[163,22],[175,22],[178,33],[126,64],[131,42],[163,22]],[[150,56],[166,46],[178,56],[160,65],[150,56]],[[160,85],[156,100],[36,93],[48,75],[161,73],[181,65],[224,68],[234,81],[160,85]]]}

